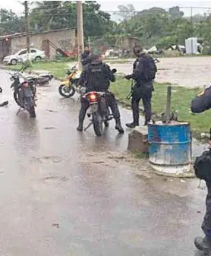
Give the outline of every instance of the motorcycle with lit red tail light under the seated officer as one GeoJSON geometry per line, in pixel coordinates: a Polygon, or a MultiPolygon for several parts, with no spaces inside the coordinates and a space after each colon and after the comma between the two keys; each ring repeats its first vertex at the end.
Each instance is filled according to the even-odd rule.
{"type": "MultiPolygon", "coordinates": [[[[112,72],[114,74],[116,69],[113,69],[112,72]]],[[[108,94],[108,91],[91,91],[83,95],[83,97],[90,103],[90,112],[87,115],[91,118],[90,124],[84,129],[84,131],[93,125],[96,136],[102,136],[103,124],[105,127],[109,126],[109,121],[113,119],[113,115],[106,103],[106,96],[108,96],[108,94]]]]}

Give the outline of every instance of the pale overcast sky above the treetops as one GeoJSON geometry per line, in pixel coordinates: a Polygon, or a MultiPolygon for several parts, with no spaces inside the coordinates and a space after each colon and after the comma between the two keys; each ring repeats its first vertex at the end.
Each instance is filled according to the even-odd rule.
{"type": "MultiPolygon", "coordinates": [[[[154,6],[161,7],[161,8],[170,8],[172,6],[184,6],[184,7],[200,7],[205,8],[209,7],[211,8],[211,1],[175,1],[175,0],[166,0],[166,1],[97,1],[102,6],[103,11],[117,11],[118,5],[127,5],[132,4],[134,5],[134,8],[137,11],[141,11],[143,9],[152,8],[154,6]]],[[[20,5],[20,2],[18,1],[8,1],[4,2],[1,1],[0,8],[8,8],[12,9],[13,11],[17,12],[17,14],[20,14],[22,11],[24,11],[24,6],[20,5]]],[[[184,9],[182,10],[185,12],[186,15],[190,15],[190,10],[184,9]]],[[[194,14],[196,13],[203,13],[206,9],[195,9],[194,14]]]]}

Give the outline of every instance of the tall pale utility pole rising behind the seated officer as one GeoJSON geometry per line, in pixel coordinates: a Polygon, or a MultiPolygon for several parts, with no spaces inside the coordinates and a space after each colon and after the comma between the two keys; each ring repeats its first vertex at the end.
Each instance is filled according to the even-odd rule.
{"type": "Polygon", "coordinates": [[[77,1],[77,55],[78,65],[82,69],[80,56],[83,52],[83,7],[82,1],[77,1]]]}

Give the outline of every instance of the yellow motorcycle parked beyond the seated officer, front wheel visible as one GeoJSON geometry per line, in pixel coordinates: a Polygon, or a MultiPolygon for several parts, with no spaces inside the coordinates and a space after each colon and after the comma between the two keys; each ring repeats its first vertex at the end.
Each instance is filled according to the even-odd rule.
{"type": "Polygon", "coordinates": [[[81,71],[77,69],[77,66],[74,65],[67,72],[67,77],[65,81],[61,81],[60,86],[58,87],[58,92],[61,96],[65,98],[70,98],[74,96],[74,93],[80,93],[80,86],[78,85],[78,81],[80,78],[81,71]]]}

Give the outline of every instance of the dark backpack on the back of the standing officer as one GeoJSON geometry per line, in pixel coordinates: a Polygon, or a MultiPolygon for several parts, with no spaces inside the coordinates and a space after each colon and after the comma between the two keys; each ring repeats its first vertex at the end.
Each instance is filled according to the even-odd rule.
{"type": "Polygon", "coordinates": [[[150,55],[143,54],[139,58],[143,68],[143,80],[153,81],[156,78],[157,67],[154,59],[150,55]]]}

